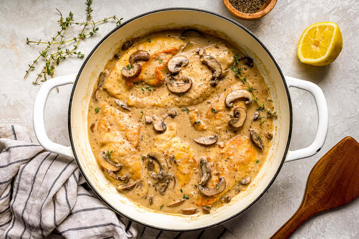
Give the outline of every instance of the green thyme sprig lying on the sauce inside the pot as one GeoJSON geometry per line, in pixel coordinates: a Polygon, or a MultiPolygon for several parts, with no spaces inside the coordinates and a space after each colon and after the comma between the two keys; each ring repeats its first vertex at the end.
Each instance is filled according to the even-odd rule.
{"type": "MultiPolygon", "coordinates": [[[[239,62],[239,57],[238,57],[238,54],[235,54],[234,55],[234,62],[236,64],[238,64],[239,62]]],[[[232,71],[234,72],[234,75],[241,78],[242,82],[244,83],[244,85],[247,87],[247,91],[249,91],[252,95],[252,98],[253,100],[256,102],[258,108],[257,108],[257,111],[259,113],[259,117],[261,119],[261,123],[260,123],[260,127],[261,129],[263,129],[263,124],[265,123],[265,120],[264,119],[264,116],[261,116],[261,112],[267,112],[268,115],[270,116],[273,116],[274,118],[277,118],[277,113],[276,112],[272,112],[271,110],[269,110],[268,108],[266,108],[266,106],[264,104],[262,104],[258,98],[254,95],[253,93],[253,87],[250,86],[250,84],[248,83],[247,81],[247,78],[243,76],[243,73],[242,73],[242,68],[239,67],[239,68],[236,68],[235,66],[232,66],[231,67],[232,71]]]]}

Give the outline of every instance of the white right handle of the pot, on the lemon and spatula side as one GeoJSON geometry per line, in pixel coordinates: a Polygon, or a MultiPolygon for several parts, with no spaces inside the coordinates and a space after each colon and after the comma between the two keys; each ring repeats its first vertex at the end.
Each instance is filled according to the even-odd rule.
{"type": "Polygon", "coordinates": [[[301,158],[311,157],[321,150],[328,133],[328,107],[323,91],[316,84],[290,76],[285,76],[285,81],[287,82],[288,87],[296,87],[310,92],[314,96],[318,112],[318,127],[314,142],[307,148],[294,151],[289,150],[285,162],[290,162],[301,158]]]}

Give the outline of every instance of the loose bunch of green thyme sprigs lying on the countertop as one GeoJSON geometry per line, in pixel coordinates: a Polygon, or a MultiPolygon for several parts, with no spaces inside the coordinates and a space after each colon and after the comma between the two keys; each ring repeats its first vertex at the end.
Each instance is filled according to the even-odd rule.
{"type": "Polygon", "coordinates": [[[39,80],[41,82],[45,82],[48,79],[48,77],[53,78],[55,75],[55,68],[61,61],[64,61],[69,56],[77,56],[80,58],[83,58],[85,56],[83,53],[77,50],[79,47],[79,43],[81,42],[82,39],[85,39],[89,36],[93,36],[98,32],[99,28],[97,27],[97,24],[106,23],[111,19],[116,20],[116,25],[121,24],[122,18],[118,19],[116,15],[104,18],[103,20],[99,20],[96,22],[93,21],[92,20],[93,9],[91,8],[91,4],[92,4],[92,0],[86,1],[86,6],[87,6],[86,21],[82,23],[74,21],[73,19],[74,14],[71,11],[69,15],[64,19],[62,13],[56,9],[60,13],[60,20],[58,20],[58,23],[60,25],[60,30],[57,31],[55,36],[49,39],[48,41],[41,41],[41,39],[39,41],[34,41],[34,40],[29,40],[29,38],[26,38],[27,44],[29,43],[35,43],[37,45],[41,44],[41,45],[45,45],[45,48],[43,48],[42,51],[39,52],[38,57],[34,59],[31,64],[28,64],[29,68],[27,71],[25,71],[26,73],[24,78],[26,78],[29,75],[29,72],[31,70],[35,69],[35,64],[39,62],[41,59],[43,59],[45,63],[42,67],[42,70],[39,71],[39,73],[37,74],[37,78],[35,79],[35,81],[32,81],[33,85],[38,85],[39,80]],[[67,32],[69,27],[71,27],[71,25],[82,26],[82,29],[81,32],[78,33],[76,36],[67,37],[67,32]],[[86,31],[88,27],[92,27],[92,30],[86,31]],[[65,47],[67,43],[71,43],[71,42],[73,44],[75,44],[76,42],[76,44],[73,45],[71,49],[65,47]],[[54,51],[50,52],[51,46],[57,46],[57,47],[56,49],[54,49],[54,51]]]}

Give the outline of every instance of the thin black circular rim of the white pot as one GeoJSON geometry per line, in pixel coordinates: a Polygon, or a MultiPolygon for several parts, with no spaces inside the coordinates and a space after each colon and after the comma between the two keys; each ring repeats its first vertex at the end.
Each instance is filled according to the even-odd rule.
{"type": "Polygon", "coordinates": [[[178,231],[178,232],[185,232],[185,231],[197,231],[197,230],[204,230],[204,229],[208,229],[208,228],[212,228],[214,226],[218,226],[220,224],[223,224],[233,218],[236,218],[237,216],[241,215],[244,211],[246,211],[247,209],[249,209],[251,206],[253,206],[269,189],[269,187],[272,185],[272,183],[274,182],[275,178],[278,176],[278,173],[281,169],[281,167],[283,166],[283,163],[284,163],[284,160],[285,160],[285,157],[288,153],[288,149],[289,149],[289,143],[290,143],[290,139],[291,139],[291,136],[292,136],[292,125],[293,125],[293,113],[292,113],[292,102],[290,100],[290,95],[289,95],[289,90],[288,90],[288,86],[286,85],[286,81],[285,81],[285,78],[284,78],[284,75],[282,73],[282,71],[280,70],[280,67],[278,65],[278,63],[275,61],[274,57],[272,56],[272,54],[269,52],[269,50],[267,49],[267,47],[256,37],[256,35],[254,35],[252,32],[250,32],[250,30],[248,30],[246,27],[244,27],[243,25],[237,23],[236,21],[226,17],[226,16],[223,16],[223,15],[220,15],[218,13],[213,13],[211,11],[206,11],[206,10],[201,10],[201,9],[196,9],[196,8],[164,8],[164,9],[159,9],[159,10],[154,10],[154,11],[150,11],[150,12],[147,12],[147,13],[144,13],[144,14],[141,14],[141,15],[138,15],[134,18],[131,18],[130,20],[127,20],[125,21],[124,23],[122,23],[121,25],[117,26],[116,28],[114,28],[111,32],[109,32],[104,38],[102,38],[99,43],[92,49],[92,51],[89,53],[89,55],[87,56],[87,58],[85,59],[84,63],[82,64],[80,70],[79,70],[79,73],[76,77],[76,80],[74,82],[74,86],[73,86],[73,89],[72,89],[72,92],[71,92],[71,95],[70,95],[70,102],[69,102],[69,111],[68,111],[68,130],[69,130],[69,138],[70,138],[70,143],[71,143],[71,148],[72,148],[72,151],[73,151],[73,154],[74,154],[74,158],[75,158],[75,161],[80,169],[80,172],[81,174],[84,176],[86,182],[88,183],[88,185],[90,186],[90,188],[95,192],[95,194],[99,197],[99,199],[101,199],[107,206],[109,206],[113,211],[115,211],[116,213],[120,214],[121,216],[131,220],[131,221],[134,221],[135,223],[138,223],[140,225],[143,225],[143,226],[146,226],[146,227],[149,227],[149,228],[153,228],[153,229],[157,229],[157,230],[163,230],[163,231],[178,231]],[[72,102],[73,102],[73,96],[74,96],[74,92],[75,92],[75,89],[76,89],[76,85],[77,85],[77,82],[79,80],[79,77],[85,67],[85,65],[87,64],[88,60],[90,59],[90,57],[92,56],[92,54],[94,53],[94,51],[101,45],[101,43],[106,40],[112,33],[116,32],[118,29],[120,29],[121,27],[123,27],[124,25],[130,23],[131,21],[134,21],[138,18],[141,18],[143,16],[146,16],[146,15],[150,15],[150,14],[153,14],[153,13],[158,13],[158,12],[161,12],[161,11],[177,11],[177,10],[187,10],[187,11],[198,11],[198,12],[201,12],[201,13],[207,13],[207,14],[211,14],[211,15],[214,15],[218,18],[222,18],[224,20],[227,20],[229,21],[230,23],[233,23],[235,25],[237,25],[237,27],[241,28],[242,30],[246,31],[248,34],[250,34],[261,46],[262,48],[264,48],[264,50],[267,52],[267,54],[270,56],[270,58],[272,59],[272,61],[274,62],[276,68],[278,69],[279,71],[279,74],[282,78],[282,81],[283,81],[283,84],[284,84],[284,87],[285,87],[285,91],[286,91],[286,94],[287,94],[287,98],[288,98],[288,105],[289,105],[289,132],[288,132],[288,140],[287,140],[287,143],[286,143],[286,148],[285,148],[285,152],[284,152],[284,155],[283,155],[283,158],[282,158],[282,161],[274,175],[274,177],[272,178],[272,180],[270,181],[270,183],[267,185],[267,187],[265,188],[265,190],[263,190],[263,192],[255,199],[253,200],[250,205],[248,205],[247,207],[245,207],[244,209],[242,209],[241,211],[237,212],[236,214],[230,216],[229,218],[226,218],[222,221],[219,221],[217,223],[213,223],[213,224],[210,224],[210,225],[206,225],[206,226],[202,226],[200,228],[194,228],[194,229],[167,229],[167,228],[160,228],[160,227],[157,227],[157,226],[153,226],[153,225],[149,225],[149,224],[145,224],[145,223],[142,223],[140,221],[137,221],[136,219],[133,219],[131,218],[131,216],[129,215],[126,215],[126,214],[123,214],[123,212],[119,211],[118,209],[116,209],[115,206],[111,205],[106,199],[104,199],[101,195],[101,193],[99,191],[96,190],[96,188],[89,182],[88,180],[88,177],[85,175],[84,171],[83,171],[83,168],[81,167],[80,163],[79,163],[79,159],[77,157],[77,154],[76,154],[76,151],[75,151],[75,147],[74,147],[74,139],[72,137],[72,129],[71,129],[71,106],[72,106],[72,102]]]}

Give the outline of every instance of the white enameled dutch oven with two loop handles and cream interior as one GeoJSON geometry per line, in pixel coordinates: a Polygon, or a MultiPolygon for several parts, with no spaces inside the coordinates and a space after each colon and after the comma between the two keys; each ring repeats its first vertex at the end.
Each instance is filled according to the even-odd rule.
{"type": "Polygon", "coordinates": [[[284,162],[310,157],[325,142],[328,131],[328,110],[322,90],[315,84],[283,76],[268,49],[249,30],[237,22],[208,11],[197,9],[163,9],[146,13],[126,21],[106,35],[92,50],[77,74],[56,77],[41,86],[34,105],[34,130],[39,143],[48,151],[74,157],[81,173],[92,190],[114,211],[145,226],[160,230],[200,230],[219,225],[236,217],[252,206],[268,190],[284,162]],[[101,172],[88,140],[87,112],[93,86],[107,60],[122,43],[134,37],[165,29],[197,28],[215,32],[232,44],[241,47],[254,58],[270,88],[278,119],[274,120],[274,139],[269,157],[248,190],[229,204],[219,207],[210,215],[182,216],[164,214],[135,204],[109,184],[101,172]],[[43,122],[46,99],[56,86],[74,84],[69,103],[70,147],[51,142],[43,122]],[[292,105],[288,87],[311,92],[318,111],[318,129],[314,142],[307,148],[288,150],[292,133],[292,105]]]}

